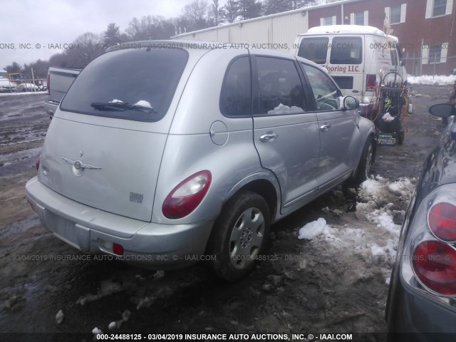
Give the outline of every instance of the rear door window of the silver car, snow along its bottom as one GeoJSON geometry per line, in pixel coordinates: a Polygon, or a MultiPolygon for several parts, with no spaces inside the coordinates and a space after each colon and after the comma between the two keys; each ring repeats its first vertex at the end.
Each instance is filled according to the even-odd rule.
{"type": "Polygon", "coordinates": [[[306,98],[294,61],[257,56],[259,115],[304,113],[306,98]]]}

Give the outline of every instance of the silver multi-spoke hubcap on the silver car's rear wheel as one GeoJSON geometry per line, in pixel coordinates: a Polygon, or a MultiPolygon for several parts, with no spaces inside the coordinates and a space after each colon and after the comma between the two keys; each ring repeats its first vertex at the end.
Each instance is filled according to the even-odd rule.
{"type": "Polygon", "coordinates": [[[257,208],[249,208],[234,224],[229,237],[229,259],[235,269],[244,269],[254,261],[264,237],[264,217],[257,208]]]}

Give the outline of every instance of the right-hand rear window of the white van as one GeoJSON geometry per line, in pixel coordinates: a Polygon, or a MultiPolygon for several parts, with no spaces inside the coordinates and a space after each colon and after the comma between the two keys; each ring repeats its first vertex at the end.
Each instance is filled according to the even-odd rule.
{"type": "Polygon", "coordinates": [[[361,37],[335,37],[331,41],[331,64],[361,64],[363,42],[361,37]]]}

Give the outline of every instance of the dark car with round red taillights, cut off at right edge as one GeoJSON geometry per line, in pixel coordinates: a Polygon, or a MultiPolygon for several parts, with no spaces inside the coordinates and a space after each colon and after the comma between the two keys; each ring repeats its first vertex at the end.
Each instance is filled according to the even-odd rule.
{"type": "Polygon", "coordinates": [[[388,341],[456,341],[456,108],[408,205],[385,311],[388,341]]]}

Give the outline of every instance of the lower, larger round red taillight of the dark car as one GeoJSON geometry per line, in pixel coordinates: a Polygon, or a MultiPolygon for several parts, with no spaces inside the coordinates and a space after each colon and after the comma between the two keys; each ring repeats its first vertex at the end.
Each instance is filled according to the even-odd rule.
{"type": "Polygon", "coordinates": [[[421,242],[413,252],[413,270],[428,288],[440,294],[456,294],[456,251],[440,241],[421,242]]]}

